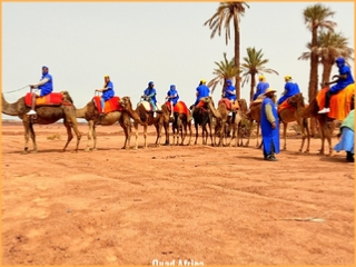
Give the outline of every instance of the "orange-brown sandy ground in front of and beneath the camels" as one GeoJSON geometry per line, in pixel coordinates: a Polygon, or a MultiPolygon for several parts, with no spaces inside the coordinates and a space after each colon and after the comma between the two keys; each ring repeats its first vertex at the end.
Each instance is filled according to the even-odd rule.
{"type": "Polygon", "coordinates": [[[22,126],[2,126],[3,265],[354,263],[355,165],[316,155],[319,139],[298,154],[290,131],[268,162],[256,139],[157,148],[150,135],[127,151],[110,126],[98,127],[98,151],[82,151],[85,136],[72,154],[61,125],[34,129],[39,152],[21,155],[22,126]]]}

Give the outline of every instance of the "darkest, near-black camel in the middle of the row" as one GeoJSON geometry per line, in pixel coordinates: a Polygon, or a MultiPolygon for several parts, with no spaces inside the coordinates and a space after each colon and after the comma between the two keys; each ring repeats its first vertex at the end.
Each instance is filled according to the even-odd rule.
{"type": "MultiPolygon", "coordinates": [[[[211,131],[212,116],[209,110],[209,102],[212,101],[212,99],[211,97],[206,97],[206,98],[201,98],[200,101],[204,102],[204,106],[202,107],[197,106],[192,111],[194,126],[196,128],[196,140],[194,145],[198,144],[198,136],[199,136],[198,128],[199,126],[201,126],[202,145],[207,145],[208,135],[210,134],[211,146],[214,146],[212,131],[211,131]],[[207,125],[209,127],[209,134],[208,134],[207,125]]],[[[190,109],[191,108],[192,106],[190,107],[190,109]]]]}

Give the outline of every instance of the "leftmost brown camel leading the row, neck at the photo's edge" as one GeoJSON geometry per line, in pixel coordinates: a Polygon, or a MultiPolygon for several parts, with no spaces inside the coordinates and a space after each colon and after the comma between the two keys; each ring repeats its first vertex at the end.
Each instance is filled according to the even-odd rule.
{"type": "Polygon", "coordinates": [[[69,96],[68,91],[61,91],[63,98],[62,103],[60,106],[38,106],[36,107],[36,117],[30,117],[27,112],[31,109],[27,107],[24,103],[24,97],[21,97],[18,101],[13,103],[7,102],[1,93],[2,97],[2,113],[9,116],[18,116],[23,123],[24,128],[24,150],[23,154],[29,152],[29,136],[32,139],[33,144],[33,151],[37,152],[37,142],[36,142],[36,134],[33,130],[33,125],[50,125],[55,123],[56,121],[63,119],[63,125],[67,129],[67,142],[63,147],[63,151],[66,151],[69,142],[73,138],[71,128],[75,130],[77,136],[77,145],[76,145],[76,152],[78,151],[79,141],[81,138],[81,134],[78,130],[78,123],[76,119],[76,108],[73,106],[73,101],[69,96]]]}

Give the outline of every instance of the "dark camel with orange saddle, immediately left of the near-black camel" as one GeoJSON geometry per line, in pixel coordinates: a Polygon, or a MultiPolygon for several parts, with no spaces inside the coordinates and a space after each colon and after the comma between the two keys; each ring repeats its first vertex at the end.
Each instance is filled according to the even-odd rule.
{"type": "MultiPolygon", "coordinates": [[[[179,102],[177,103],[179,105],[179,102]]],[[[174,132],[174,145],[178,146],[184,146],[184,141],[187,137],[187,128],[189,129],[189,141],[188,141],[188,146],[190,145],[191,141],[191,116],[190,116],[190,111],[188,110],[189,116],[187,116],[184,112],[176,112],[174,111],[174,121],[171,123],[171,129],[174,132]],[[179,144],[179,136],[180,136],[180,144],[179,144]],[[177,138],[177,142],[176,142],[176,138],[177,138]]]]}

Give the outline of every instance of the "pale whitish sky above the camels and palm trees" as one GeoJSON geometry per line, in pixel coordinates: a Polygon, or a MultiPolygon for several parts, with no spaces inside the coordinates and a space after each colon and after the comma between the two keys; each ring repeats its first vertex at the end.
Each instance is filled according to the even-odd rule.
{"type": "MultiPolygon", "coordinates": [[[[247,2],[240,19],[240,57],[247,48],[263,49],[269,62],[269,86],[284,91],[284,77],[290,75],[307,97],[309,61],[298,60],[312,39],[303,10],[317,2],[247,2]]],[[[354,44],[354,2],[320,2],[335,11],[336,32],[354,44]]],[[[96,88],[109,75],[117,96],[132,103],[149,81],[155,82],[157,100],[164,102],[170,85],[180,100],[195,102],[200,79],[215,78],[215,61],[234,57],[234,39],[210,39],[204,26],[219,2],[2,2],[2,91],[37,83],[41,67],[48,66],[53,91],[69,91],[78,108],[91,100],[96,88]]],[[[231,26],[233,27],[233,26],[231,26]]],[[[233,28],[231,28],[233,30],[233,28]]],[[[224,33],[224,32],[222,32],[224,33]]],[[[354,71],[354,62],[349,62],[354,71]]],[[[337,68],[333,68],[333,73],[337,68]]],[[[220,97],[218,87],[212,93],[220,97]]],[[[6,93],[9,102],[29,90],[6,93]]],[[[249,102],[250,83],[241,87],[249,102]]],[[[3,119],[10,117],[3,116],[3,119]]],[[[14,119],[14,117],[12,117],[14,119]]]]}

